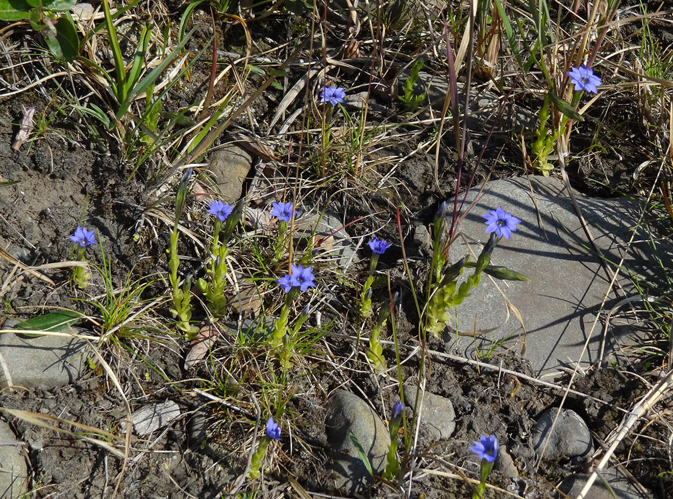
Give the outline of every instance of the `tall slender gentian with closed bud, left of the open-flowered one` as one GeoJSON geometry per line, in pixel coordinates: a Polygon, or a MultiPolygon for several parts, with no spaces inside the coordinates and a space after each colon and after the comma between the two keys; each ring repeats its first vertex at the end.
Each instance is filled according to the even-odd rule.
{"type": "Polygon", "coordinates": [[[178,193],[175,200],[175,222],[173,231],[170,235],[170,258],[168,266],[170,267],[169,280],[172,287],[173,306],[171,312],[178,317],[177,325],[185,334],[187,340],[193,340],[199,332],[199,328],[191,325],[189,321],[192,318],[192,305],[190,304],[190,280],[185,278],[180,287],[178,281],[178,266],[180,266],[180,258],[178,258],[178,221],[182,216],[184,204],[187,200],[187,190],[189,188],[189,180],[192,177],[192,169],[188,168],[182,174],[182,179],[178,185],[178,193]]]}

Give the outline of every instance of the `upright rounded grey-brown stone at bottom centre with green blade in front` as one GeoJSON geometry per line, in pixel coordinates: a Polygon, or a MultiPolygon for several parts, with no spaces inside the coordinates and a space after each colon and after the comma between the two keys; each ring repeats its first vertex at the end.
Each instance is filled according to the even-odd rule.
{"type": "Polygon", "coordinates": [[[334,391],[327,402],[325,426],[334,457],[332,468],[337,475],[336,488],[350,494],[371,484],[371,476],[353,445],[351,432],[367,453],[374,474],[383,473],[390,434],[378,414],[363,399],[349,391],[334,391]]]}

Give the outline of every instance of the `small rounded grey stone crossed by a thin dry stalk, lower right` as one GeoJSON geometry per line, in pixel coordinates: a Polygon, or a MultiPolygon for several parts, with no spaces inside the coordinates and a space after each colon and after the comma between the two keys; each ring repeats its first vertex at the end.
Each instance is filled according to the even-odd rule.
{"type": "Polygon", "coordinates": [[[542,453],[545,442],[544,457],[586,456],[593,449],[591,432],[586,423],[575,411],[562,409],[554,429],[549,430],[556,418],[558,408],[549,408],[533,426],[531,438],[536,453],[542,453]]]}

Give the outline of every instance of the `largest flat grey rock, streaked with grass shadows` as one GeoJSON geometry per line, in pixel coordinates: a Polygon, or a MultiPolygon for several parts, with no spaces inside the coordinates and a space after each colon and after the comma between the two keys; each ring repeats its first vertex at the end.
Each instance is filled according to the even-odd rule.
{"type": "MultiPolygon", "coordinates": [[[[561,181],[530,176],[530,184],[534,195],[526,178],[489,182],[486,194],[459,227],[478,256],[489,238],[481,217],[487,210],[502,206],[503,210],[522,220],[511,239],[502,239],[495,247],[491,264],[522,272],[530,278],[530,282],[495,280],[521,314],[526,334],[511,311],[507,317],[506,301],[486,275],[472,295],[458,306],[456,329],[472,332],[475,327],[478,331],[497,328],[478,338],[482,352],[487,352],[503,338],[506,340],[501,346],[521,352],[525,340],[524,358],[530,360],[538,375],[542,375],[559,371],[564,366],[572,367],[573,362],[579,360],[600,303],[608,291],[609,280],[598,258],[588,249],[588,239],[561,181]]],[[[468,193],[468,204],[475,195],[476,189],[468,193]]],[[[637,229],[634,237],[637,242],[627,249],[632,229],[639,221],[641,204],[625,197],[598,199],[583,198],[579,194],[578,202],[606,258],[619,262],[624,256],[626,269],[656,283],[657,269],[647,247],[649,237],[646,237],[644,227],[637,229]]],[[[670,266],[673,261],[670,243],[661,243],[659,251],[664,265],[670,266]]],[[[459,237],[451,248],[451,260],[456,261],[466,254],[468,247],[459,237]]],[[[462,278],[471,273],[471,269],[466,269],[462,278]]],[[[635,293],[626,272],[620,272],[618,282],[627,293],[635,293]]],[[[614,293],[610,294],[606,311],[617,301],[614,293]]],[[[466,356],[476,357],[472,338],[450,334],[445,334],[444,338],[450,351],[458,350],[466,356]]],[[[580,365],[587,366],[598,360],[601,338],[602,323],[599,322],[580,365]]],[[[622,342],[626,338],[618,339],[622,342]]],[[[612,345],[612,335],[608,334],[605,351],[610,352],[612,345]]],[[[498,350],[495,348],[496,352],[498,350]]],[[[606,358],[609,360],[607,356],[604,360],[606,358]]]]}

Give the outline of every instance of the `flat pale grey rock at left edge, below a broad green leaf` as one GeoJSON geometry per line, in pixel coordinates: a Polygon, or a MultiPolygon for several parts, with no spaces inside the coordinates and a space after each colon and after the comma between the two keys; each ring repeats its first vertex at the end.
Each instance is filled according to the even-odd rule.
{"type": "MultiPolygon", "coordinates": [[[[9,329],[9,321],[4,329],[9,329]]],[[[68,332],[65,328],[61,332],[68,332]]],[[[73,383],[86,365],[84,340],[67,336],[40,336],[21,338],[13,333],[0,334],[0,354],[4,365],[0,370],[0,384],[45,390],[73,383]]]]}

